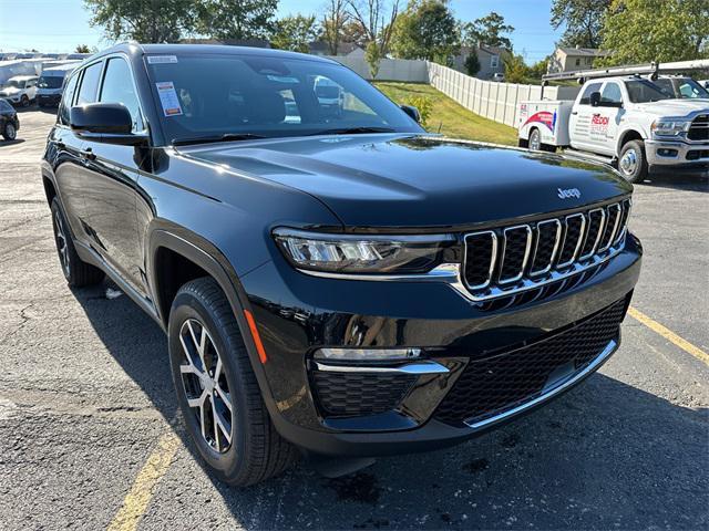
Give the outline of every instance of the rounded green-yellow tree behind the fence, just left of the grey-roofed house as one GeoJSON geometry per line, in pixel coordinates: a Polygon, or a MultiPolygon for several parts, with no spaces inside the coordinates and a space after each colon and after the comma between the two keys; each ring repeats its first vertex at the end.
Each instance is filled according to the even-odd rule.
{"type": "Polygon", "coordinates": [[[411,0],[395,23],[391,49],[397,58],[448,64],[460,51],[458,23],[449,0],[411,0]]]}

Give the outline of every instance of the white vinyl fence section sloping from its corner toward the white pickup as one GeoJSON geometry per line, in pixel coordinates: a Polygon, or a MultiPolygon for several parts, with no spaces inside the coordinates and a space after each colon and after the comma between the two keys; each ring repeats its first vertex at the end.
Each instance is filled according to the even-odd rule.
{"type": "MultiPolygon", "coordinates": [[[[517,126],[518,103],[542,97],[541,85],[495,83],[471,77],[436,63],[428,63],[429,83],[475,114],[517,126]]],[[[574,100],[576,86],[547,86],[545,100],[574,100]]]]}

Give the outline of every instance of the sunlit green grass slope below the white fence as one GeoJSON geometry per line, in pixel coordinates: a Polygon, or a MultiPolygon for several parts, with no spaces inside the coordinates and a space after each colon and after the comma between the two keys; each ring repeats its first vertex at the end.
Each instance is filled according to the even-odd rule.
{"type": "Polygon", "coordinates": [[[433,104],[428,123],[431,133],[438,133],[441,125],[441,133],[452,138],[517,145],[514,127],[471,113],[431,85],[390,82],[377,82],[374,85],[398,104],[405,103],[408,97],[428,97],[433,104]]]}

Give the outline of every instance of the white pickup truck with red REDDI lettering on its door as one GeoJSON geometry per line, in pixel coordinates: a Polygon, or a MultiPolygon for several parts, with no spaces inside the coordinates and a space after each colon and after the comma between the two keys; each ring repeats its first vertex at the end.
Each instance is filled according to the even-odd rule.
{"type": "Polygon", "coordinates": [[[709,98],[678,100],[645,77],[590,79],[574,102],[522,102],[518,116],[521,146],[571,147],[617,164],[631,183],[654,166],[709,165],[709,98]]]}

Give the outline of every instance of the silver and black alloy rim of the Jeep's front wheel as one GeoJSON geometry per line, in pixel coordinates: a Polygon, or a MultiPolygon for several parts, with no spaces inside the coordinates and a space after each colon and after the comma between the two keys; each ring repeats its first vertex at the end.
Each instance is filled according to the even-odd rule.
{"type": "Polygon", "coordinates": [[[187,319],[179,329],[182,363],[179,373],[202,437],[219,454],[232,446],[234,413],[224,364],[207,329],[187,319]]]}

